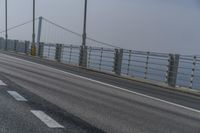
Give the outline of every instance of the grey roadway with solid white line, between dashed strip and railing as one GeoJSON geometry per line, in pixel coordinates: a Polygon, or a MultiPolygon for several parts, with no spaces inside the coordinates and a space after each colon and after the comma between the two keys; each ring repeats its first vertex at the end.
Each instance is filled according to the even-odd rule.
{"type": "Polygon", "coordinates": [[[25,97],[36,95],[105,132],[200,132],[198,96],[13,55],[0,54],[0,72],[25,97]]]}

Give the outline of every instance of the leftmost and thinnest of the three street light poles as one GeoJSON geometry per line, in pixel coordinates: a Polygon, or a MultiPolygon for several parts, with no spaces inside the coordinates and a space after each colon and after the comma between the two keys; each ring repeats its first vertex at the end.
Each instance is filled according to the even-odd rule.
{"type": "Polygon", "coordinates": [[[5,0],[5,30],[6,30],[6,34],[5,34],[5,50],[7,50],[7,45],[8,45],[8,3],[7,0],[5,0]]]}

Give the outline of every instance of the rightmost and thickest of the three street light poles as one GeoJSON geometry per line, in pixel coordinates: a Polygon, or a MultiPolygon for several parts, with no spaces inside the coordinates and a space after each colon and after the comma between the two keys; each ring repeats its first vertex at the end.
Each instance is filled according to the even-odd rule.
{"type": "Polygon", "coordinates": [[[85,7],[84,7],[84,21],[83,21],[83,35],[82,35],[82,45],[86,45],[86,23],[87,23],[87,0],[85,0],[85,7]]]}

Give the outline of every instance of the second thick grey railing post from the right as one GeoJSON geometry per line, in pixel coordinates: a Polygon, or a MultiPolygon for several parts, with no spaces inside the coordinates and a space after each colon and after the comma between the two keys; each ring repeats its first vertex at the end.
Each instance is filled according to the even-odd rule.
{"type": "Polygon", "coordinates": [[[114,72],[117,75],[121,75],[122,60],[123,49],[115,49],[114,72]]]}

